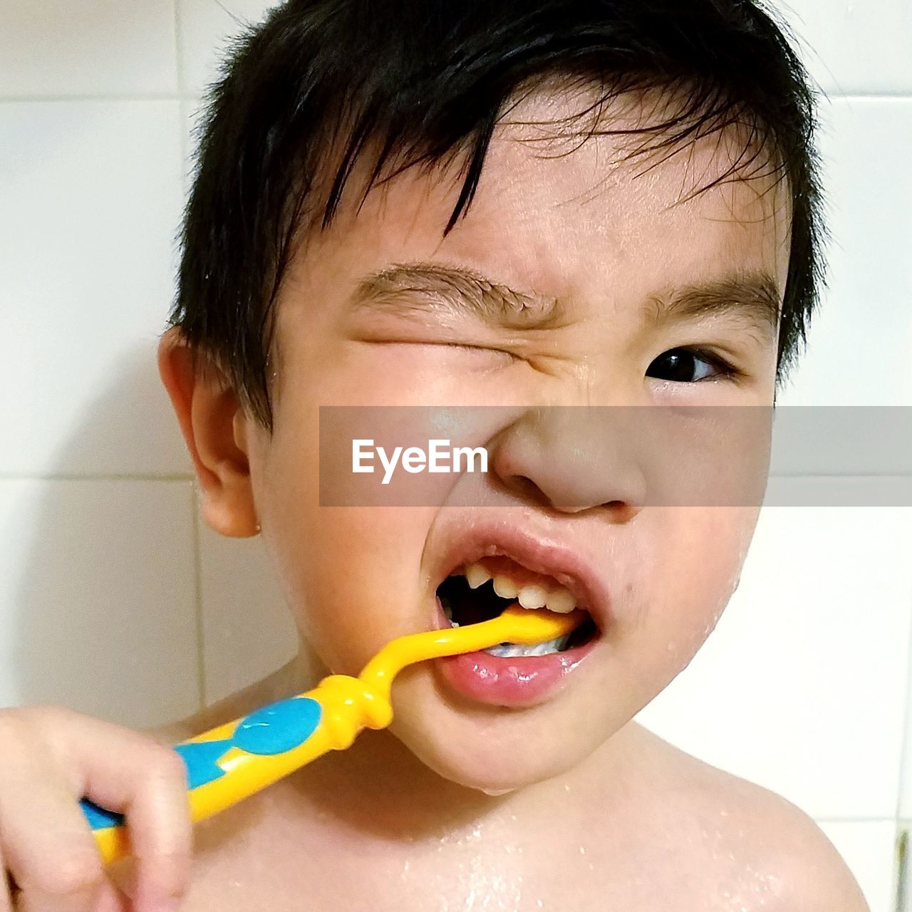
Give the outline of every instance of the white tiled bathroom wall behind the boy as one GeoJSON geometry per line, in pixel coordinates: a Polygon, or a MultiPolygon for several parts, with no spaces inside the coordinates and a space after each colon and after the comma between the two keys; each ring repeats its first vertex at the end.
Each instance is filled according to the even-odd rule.
{"type": "MultiPolygon", "coordinates": [[[[781,401],[912,405],[912,5],[771,2],[837,96],[831,290],[781,401]]],[[[191,111],[271,5],[0,0],[0,703],[145,727],[295,648],[261,543],[194,532],[154,363],[191,111]]],[[[825,818],[872,912],[893,908],[897,805],[912,816],[910,526],[908,510],[767,513],[720,627],[644,713],[825,818]]]]}

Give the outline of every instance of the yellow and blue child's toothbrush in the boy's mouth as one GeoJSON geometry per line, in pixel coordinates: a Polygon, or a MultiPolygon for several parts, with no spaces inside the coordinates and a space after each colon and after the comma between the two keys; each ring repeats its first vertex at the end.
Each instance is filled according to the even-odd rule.
{"type": "MultiPolygon", "coordinates": [[[[329,675],[306,693],[181,741],[174,750],[187,768],[193,823],[243,801],[328,751],[344,751],[365,728],[386,728],[393,718],[390,688],[403,668],[498,643],[534,646],[564,636],[581,620],[578,610],[558,615],[513,605],[480,624],[399,637],[382,648],[358,678],[329,675]]],[[[79,805],[105,864],[130,854],[122,814],[88,798],[79,805]]]]}

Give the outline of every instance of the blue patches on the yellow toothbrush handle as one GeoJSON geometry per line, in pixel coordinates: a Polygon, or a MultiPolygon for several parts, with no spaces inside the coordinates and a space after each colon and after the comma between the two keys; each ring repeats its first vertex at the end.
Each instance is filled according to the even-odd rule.
{"type": "MultiPolygon", "coordinates": [[[[231,738],[175,745],[173,750],[181,755],[187,768],[188,789],[192,791],[220,779],[225,771],[218,765],[219,761],[233,747],[260,756],[275,756],[293,750],[314,733],[320,723],[321,710],[320,704],[309,697],[290,697],[244,716],[231,738]]],[[[106,811],[88,798],[83,798],[79,804],[93,830],[124,823],[123,814],[106,811]]]]}

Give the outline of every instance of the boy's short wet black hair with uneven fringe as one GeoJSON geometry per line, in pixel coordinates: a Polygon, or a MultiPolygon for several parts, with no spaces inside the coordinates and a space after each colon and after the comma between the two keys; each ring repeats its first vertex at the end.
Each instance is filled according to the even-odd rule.
{"type": "Polygon", "coordinates": [[[599,115],[622,93],[677,98],[634,131],[631,155],[734,129],[741,154],[696,192],[786,181],[781,379],[824,277],[814,88],[792,40],[751,0],[289,0],[234,41],[208,90],[169,326],[196,368],[211,360],[272,431],[276,297],[301,239],[332,223],[356,163],[368,167],[363,202],[406,169],[459,161],[446,235],[507,106],[556,80],[595,90],[576,115],[595,112],[583,141],[617,133],[599,115]]]}

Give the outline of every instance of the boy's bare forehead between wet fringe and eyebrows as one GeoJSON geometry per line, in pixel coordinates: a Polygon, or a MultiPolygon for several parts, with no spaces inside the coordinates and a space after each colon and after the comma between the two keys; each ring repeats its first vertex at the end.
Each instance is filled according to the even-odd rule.
{"type": "MultiPolygon", "coordinates": [[[[584,102],[585,96],[540,92],[511,110],[494,131],[468,212],[446,237],[461,161],[430,173],[404,171],[372,190],[358,210],[364,162],[334,223],[311,233],[295,257],[294,285],[326,300],[327,289],[350,295],[365,275],[391,264],[440,262],[533,295],[603,304],[607,298],[617,306],[738,274],[768,273],[782,295],[785,181],[777,184],[771,169],[761,168],[765,176],[736,175],[697,192],[744,153],[741,135],[729,130],[673,155],[629,158],[631,141],[642,136],[590,137],[589,119],[555,122],[584,102]]],[[[618,98],[600,126],[639,129],[660,108],[656,98],[618,98]]],[[[311,294],[301,297],[313,300],[311,294]]]]}

